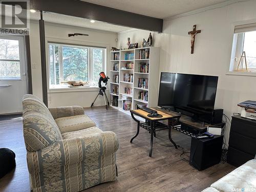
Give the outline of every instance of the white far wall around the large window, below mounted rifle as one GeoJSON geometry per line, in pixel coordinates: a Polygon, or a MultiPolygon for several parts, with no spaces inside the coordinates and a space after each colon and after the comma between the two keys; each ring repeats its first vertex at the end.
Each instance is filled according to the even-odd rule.
{"type": "MultiPolygon", "coordinates": [[[[116,47],[116,33],[96,31],[91,29],[82,29],[72,26],[63,26],[58,24],[45,24],[46,41],[51,39],[56,42],[66,42],[87,46],[104,46],[106,47],[106,66],[109,72],[109,53],[111,47],[116,47]],[[68,37],[68,33],[87,33],[89,36],[68,37]]],[[[46,42],[47,45],[47,42],[46,42]]],[[[37,22],[30,24],[30,51],[32,65],[32,87],[33,94],[42,98],[41,87],[41,60],[40,60],[40,41],[39,41],[39,25],[37,22]]],[[[109,97],[109,91],[108,97],[109,97]]],[[[83,107],[91,106],[94,98],[98,94],[98,90],[82,91],[82,92],[49,92],[49,106],[67,106],[81,105],[83,107]]],[[[104,105],[104,100],[100,96],[94,104],[104,105]]]]}

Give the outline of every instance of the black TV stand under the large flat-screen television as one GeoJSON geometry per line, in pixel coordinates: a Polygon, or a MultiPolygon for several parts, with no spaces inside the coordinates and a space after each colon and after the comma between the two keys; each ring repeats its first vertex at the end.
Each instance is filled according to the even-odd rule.
{"type": "MultiPolygon", "coordinates": [[[[156,109],[158,111],[161,110],[164,113],[167,113],[169,115],[180,114],[170,109],[159,109],[159,108],[153,108],[153,109],[156,109]]],[[[190,117],[184,114],[180,114],[180,115],[181,117],[179,121],[175,124],[175,126],[173,126],[173,129],[183,134],[186,134],[190,137],[196,137],[196,135],[206,132],[208,126],[224,127],[225,125],[224,122],[218,123],[218,124],[210,124],[203,121],[195,121],[193,117],[190,117]]]]}

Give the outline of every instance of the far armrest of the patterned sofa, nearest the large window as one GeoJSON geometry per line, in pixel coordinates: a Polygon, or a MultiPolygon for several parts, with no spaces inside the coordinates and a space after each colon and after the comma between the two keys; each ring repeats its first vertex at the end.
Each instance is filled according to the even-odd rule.
{"type": "Polygon", "coordinates": [[[81,106],[60,106],[57,108],[49,108],[49,111],[54,119],[74,115],[84,115],[84,110],[81,106]]]}

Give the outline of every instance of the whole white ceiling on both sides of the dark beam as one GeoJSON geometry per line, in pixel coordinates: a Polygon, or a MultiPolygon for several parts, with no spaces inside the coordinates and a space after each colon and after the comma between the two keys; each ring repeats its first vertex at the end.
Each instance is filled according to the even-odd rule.
{"type": "MultiPolygon", "coordinates": [[[[167,18],[170,16],[186,13],[210,5],[225,2],[226,0],[81,0],[106,7],[138,13],[157,18],[167,18]]],[[[0,5],[0,8],[3,5],[0,5]]],[[[3,14],[3,13],[2,13],[3,14]]],[[[8,14],[7,14],[8,15],[8,14]]],[[[9,15],[11,16],[11,14],[9,15]]],[[[40,13],[30,13],[30,19],[38,20],[40,13]]],[[[98,22],[91,23],[90,19],[62,15],[57,13],[44,13],[45,22],[70,25],[88,29],[122,32],[132,28],[98,22]]]]}

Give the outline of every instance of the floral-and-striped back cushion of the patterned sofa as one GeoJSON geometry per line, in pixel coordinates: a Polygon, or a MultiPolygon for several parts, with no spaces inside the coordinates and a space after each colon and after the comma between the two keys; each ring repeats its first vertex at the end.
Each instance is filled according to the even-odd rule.
{"type": "Polygon", "coordinates": [[[41,150],[62,136],[50,111],[34,95],[23,98],[23,127],[25,145],[29,152],[41,150]]]}

